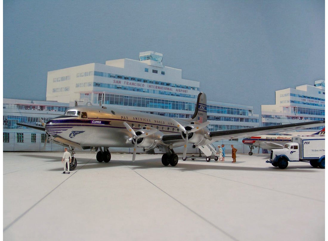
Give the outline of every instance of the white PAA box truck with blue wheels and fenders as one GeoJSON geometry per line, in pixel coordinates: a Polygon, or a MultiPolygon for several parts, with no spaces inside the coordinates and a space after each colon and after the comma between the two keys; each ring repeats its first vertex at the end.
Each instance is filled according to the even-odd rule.
{"type": "Polygon", "coordinates": [[[313,167],[325,168],[325,137],[293,137],[292,142],[286,143],[283,149],[272,149],[270,160],[266,162],[285,169],[288,161],[310,162],[313,167]]]}

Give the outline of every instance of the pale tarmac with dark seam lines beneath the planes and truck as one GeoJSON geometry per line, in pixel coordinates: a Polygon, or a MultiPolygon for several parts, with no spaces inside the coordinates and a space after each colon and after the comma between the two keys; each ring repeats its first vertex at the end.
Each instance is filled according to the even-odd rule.
{"type": "Polygon", "coordinates": [[[325,169],[309,163],[75,157],[62,174],[62,153],[3,153],[4,240],[325,239],[325,169]]]}

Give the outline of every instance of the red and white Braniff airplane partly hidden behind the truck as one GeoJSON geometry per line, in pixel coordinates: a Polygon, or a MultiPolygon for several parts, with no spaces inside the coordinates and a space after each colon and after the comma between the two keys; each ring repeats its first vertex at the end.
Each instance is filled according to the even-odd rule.
{"type": "Polygon", "coordinates": [[[293,136],[324,136],[325,135],[325,128],[323,128],[321,131],[318,131],[316,133],[312,132],[290,132],[288,134],[283,135],[261,135],[261,136],[252,136],[247,137],[242,140],[242,142],[245,145],[248,145],[250,148],[250,152],[248,155],[252,156],[254,150],[254,147],[272,150],[272,149],[278,149],[278,148],[284,148],[284,145],[287,142],[292,141],[293,136]]]}

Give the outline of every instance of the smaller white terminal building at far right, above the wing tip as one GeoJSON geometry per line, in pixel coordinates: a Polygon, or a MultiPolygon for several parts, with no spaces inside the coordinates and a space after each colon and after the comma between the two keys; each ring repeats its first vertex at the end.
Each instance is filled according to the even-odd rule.
{"type": "Polygon", "coordinates": [[[276,104],[261,105],[262,126],[325,120],[325,81],[276,91],[276,104]]]}

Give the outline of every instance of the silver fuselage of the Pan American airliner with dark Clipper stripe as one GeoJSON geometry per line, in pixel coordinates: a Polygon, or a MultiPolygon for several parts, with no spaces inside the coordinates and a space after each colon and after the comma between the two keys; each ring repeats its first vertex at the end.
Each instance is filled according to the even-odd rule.
{"type": "Polygon", "coordinates": [[[65,116],[48,121],[46,132],[52,137],[61,137],[81,146],[132,147],[132,136],[124,121],[135,131],[144,126],[158,129],[154,139],[160,139],[163,134],[181,133],[169,117],[92,105],[71,107],[65,116]]]}

